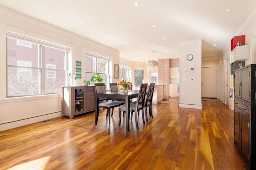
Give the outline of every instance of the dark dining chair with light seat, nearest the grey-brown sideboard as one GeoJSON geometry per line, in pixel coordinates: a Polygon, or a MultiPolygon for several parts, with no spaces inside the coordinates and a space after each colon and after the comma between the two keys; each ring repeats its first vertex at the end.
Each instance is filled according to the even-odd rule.
{"type": "MultiPolygon", "coordinates": [[[[95,90],[96,93],[102,93],[106,92],[106,86],[104,83],[95,83],[95,90]]],[[[99,101],[106,100],[107,102],[102,102],[99,104],[99,108],[107,109],[106,117],[108,117],[108,124],[110,124],[110,109],[112,109],[112,112],[114,110],[114,107],[121,106],[118,102],[108,101],[106,98],[99,98],[99,101]]]]}

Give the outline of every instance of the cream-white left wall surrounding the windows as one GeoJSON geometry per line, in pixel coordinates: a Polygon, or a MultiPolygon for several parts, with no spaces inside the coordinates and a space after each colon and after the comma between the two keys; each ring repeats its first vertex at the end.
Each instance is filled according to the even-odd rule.
{"type": "MultiPolygon", "coordinates": [[[[119,51],[100,43],[3,6],[0,6],[0,18],[0,131],[61,116],[60,94],[6,98],[6,31],[70,47],[72,74],[75,73],[74,62],[83,61],[86,51],[110,57],[112,68],[114,68],[114,64],[119,64],[119,51]]],[[[114,73],[114,69],[112,69],[112,73],[114,73]]],[[[83,74],[84,71],[82,71],[82,77],[83,74]]],[[[78,79],[77,84],[82,84],[82,79],[78,79]]]]}

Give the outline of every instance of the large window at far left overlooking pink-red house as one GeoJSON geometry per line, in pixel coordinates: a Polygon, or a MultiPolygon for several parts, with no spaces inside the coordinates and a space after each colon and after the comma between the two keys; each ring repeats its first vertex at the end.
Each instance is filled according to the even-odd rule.
{"type": "Polygon", "coordinates": [[[67,82],[69,50],[26,37],[6,37],[7,97],[55,94],[67,82]]]}

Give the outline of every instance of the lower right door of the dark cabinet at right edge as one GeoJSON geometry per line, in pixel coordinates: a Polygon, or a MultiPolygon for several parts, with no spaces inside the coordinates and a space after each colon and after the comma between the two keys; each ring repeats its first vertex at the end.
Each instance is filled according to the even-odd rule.
{"type": "Polygon", "coordinates": [[[249,117],[246,113],[242,112],[242,152],[244,154],[244,157],[249,162],[249,149],[250,149],[250,143],[249,143],[249,134],[250,134],[250,128],[249,128],[249,117]]]}

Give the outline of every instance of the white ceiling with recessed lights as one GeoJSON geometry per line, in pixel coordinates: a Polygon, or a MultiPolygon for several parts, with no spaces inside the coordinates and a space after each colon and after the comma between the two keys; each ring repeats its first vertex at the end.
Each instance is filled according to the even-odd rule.
{"type": "Polygon", "coordinates": [[[195,39],[202,39],[203,58],[218,58],[256,0],[0,0],[0,5],[112,47],[121,58],[145,62],[178,58],[179,43],[195,39]]]}

